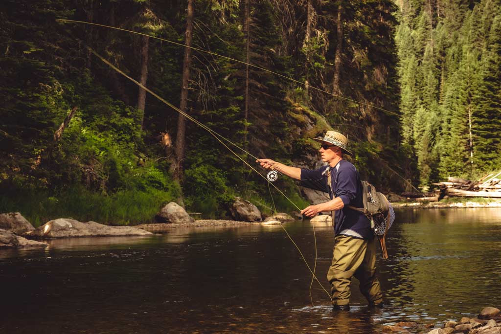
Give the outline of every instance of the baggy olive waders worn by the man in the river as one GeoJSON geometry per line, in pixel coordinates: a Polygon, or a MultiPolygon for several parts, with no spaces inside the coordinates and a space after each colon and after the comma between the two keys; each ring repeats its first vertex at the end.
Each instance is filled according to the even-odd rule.
{"type": "Polygon", "coordinates": [[[369,304],[382,302],[383,292],[376,278],[376,238],[365,240],[338,235],[334,240],[332,265],[327,273],[333,305],[350,303],[352,276],[360,281],[360,291],[369,304]]]}

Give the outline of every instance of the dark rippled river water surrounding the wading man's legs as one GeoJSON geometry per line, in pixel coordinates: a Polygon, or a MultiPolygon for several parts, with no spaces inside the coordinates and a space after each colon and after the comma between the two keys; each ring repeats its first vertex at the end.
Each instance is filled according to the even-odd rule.
{"type": "MultiPolygon", "coordinates": [[[[309,222],[284,224],[313,266],[309,222]]],[[[332,227],[316,226],[316,273],[328,289],[332,227]]],[[[379,333],[501,305],[501,208],[405,209],[378,258],[387,305],[333,313],[280,226],[178,228],[146,237],[50,240],[0,251],[0,332],[379,333]]]]}

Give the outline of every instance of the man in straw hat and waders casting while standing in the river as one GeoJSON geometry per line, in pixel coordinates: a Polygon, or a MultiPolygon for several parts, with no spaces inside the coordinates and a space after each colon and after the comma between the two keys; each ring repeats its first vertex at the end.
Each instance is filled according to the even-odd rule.
{"type": "Polygon", "coordinates": [[[348,207],[363,208],[362,184],[358,171],[353,164],[343,160],[345,154],[351,155],[346,149],[348,139],[339,132],[327,131],[323,139],[315,140],[322,143],[322,161],[327,162],[328,166],[309,170],[286,166],[271,159],[259,159],[258,162],[264,168],[301,180],[304,187],[330,194],[330,201],[310,205],[301,213],[314,217],[319,212],[334,212],[334,250],[327,273],[334,309],[350,309],[352,276],[360,281],[360,291],[369,305],[381,306],[383,293],[376,278],[376,238],[367,217],[348,207]]]}

